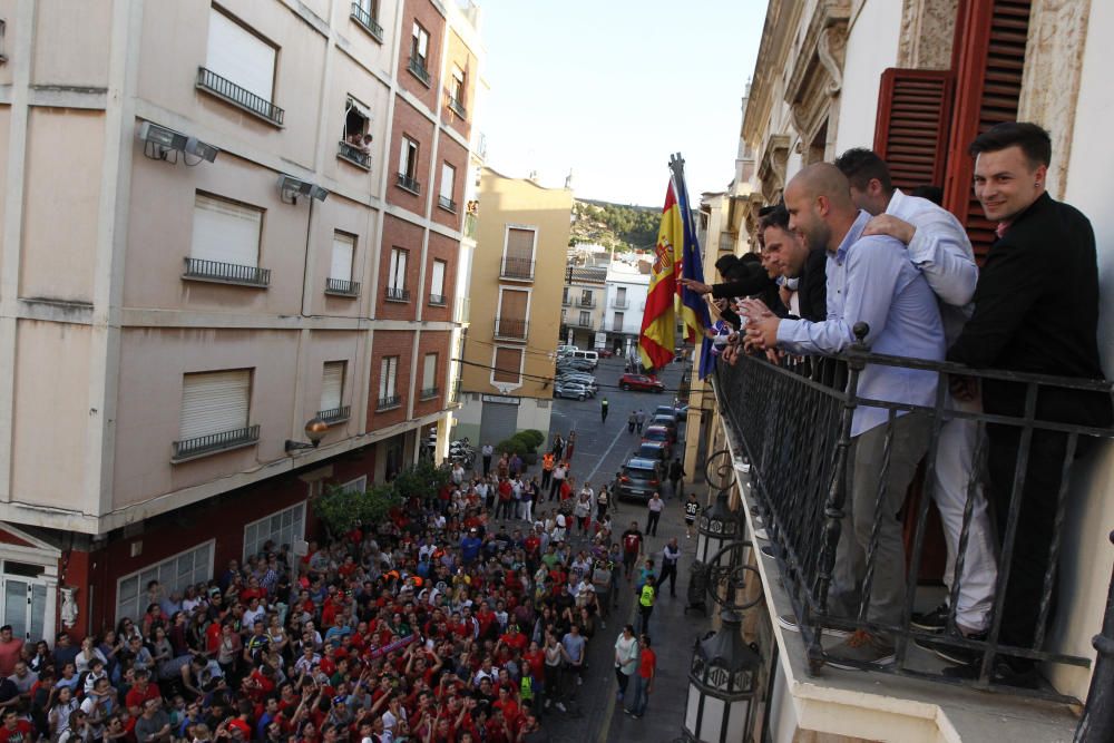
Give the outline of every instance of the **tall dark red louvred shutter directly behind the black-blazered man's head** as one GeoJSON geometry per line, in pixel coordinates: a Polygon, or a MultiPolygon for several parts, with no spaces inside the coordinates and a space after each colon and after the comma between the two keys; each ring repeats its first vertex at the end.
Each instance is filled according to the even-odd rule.
{"type": "Polygon", "coordinates": [[[1032,4],[1032,0],[960,0],[959,3],[956,105],[944,205],[967,227],[980,262],[995,241],[995,225],[983,216],[983,207],[975,199],[971,189],[975,163],[967,155],[967,147],[995,124],[1017,120],[1032,4]]]}

